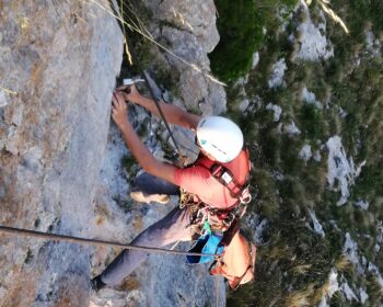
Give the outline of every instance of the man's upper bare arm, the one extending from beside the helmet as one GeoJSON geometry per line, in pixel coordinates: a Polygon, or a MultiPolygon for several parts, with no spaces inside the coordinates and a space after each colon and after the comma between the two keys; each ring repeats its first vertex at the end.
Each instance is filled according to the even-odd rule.
{"type": "MultiPolygon", "coordinates": [[[[152,113],[155,116],[158,116],[159,118],[161,118],[160,112],[159,112],[155,103],[153,102],[153,100],[141,95],[137,91],[135,86],[130,87],[129,94],[127,94],[126,92],[121,92],[121,93],[123,93],[125,100],[128,100],[132,103],[136,103],[136,104],[143,106],[150,113],[152,113]]],[[[165,116],[165,120],[169,123],[177,125],[177,126],[182,126],[182,127],[186,127],[186,128],[195,130],[197,128],[199,121],[201,120],[201,116],[193,114],[193,113],[188,113],[188,112],[186,112],[186,111],[182,110],[181,107],[173,105],[173,104],[160,102],[160,107],[162,110],[162,113],[165,116]]]]}

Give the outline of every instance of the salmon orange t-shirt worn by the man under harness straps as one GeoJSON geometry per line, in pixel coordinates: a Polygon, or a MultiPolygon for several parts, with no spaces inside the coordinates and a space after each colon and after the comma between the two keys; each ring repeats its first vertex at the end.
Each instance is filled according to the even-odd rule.
{"type": "MultiPolygon", "coordinates": [[[[175,184],[198,196],[200,201],[217,208],[227,209],[233,206],[237,198],[232,197],[227,186],[210,174],[210,167],[216,162],[202,156],[185,169],[176,169],[175,184]]],[[[239,184],[244,184],[249,172],[248,156],[245,150],[229,163],[221,163],[229,169],[239,184]]]]}

